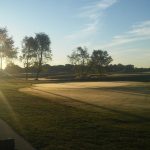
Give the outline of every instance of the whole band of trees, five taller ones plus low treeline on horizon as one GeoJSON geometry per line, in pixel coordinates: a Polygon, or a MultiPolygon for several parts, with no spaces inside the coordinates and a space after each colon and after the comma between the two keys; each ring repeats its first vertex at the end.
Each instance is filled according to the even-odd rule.
{"type": "Polygon", "coordinates": [[[70,64],[50,66],[47,63],[52,59],[50,37],[45,33],[36,33],[35,36],[25,36],[22,39],[21,50],[15,47],[13,38],[8,35],[6,28],[0,28],[0,70],[3,61],[8,64],[5,68],[8,72],[20,72],[35,74],[38,80],[42,73],[72,73],[78,77],[89,74],[103,74],[105,72],[142,72],[149,71],[146,68],[135,68],[134,65],[111,64],[112,57],[105,50],[93,50],[90,55],[86,47],[77,47],[67,56],[70,64]],[[18,53],[21,54],[18,56],[18,53]],[[18,56],[18,57],[17,57],[18,56]],[[23,68],[12,63],[11,60],[18,59],[23,63],[23,68]]]}

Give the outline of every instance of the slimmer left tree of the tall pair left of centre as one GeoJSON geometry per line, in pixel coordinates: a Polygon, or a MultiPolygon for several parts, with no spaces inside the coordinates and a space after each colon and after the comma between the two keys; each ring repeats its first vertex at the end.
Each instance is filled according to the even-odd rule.
{"type": "Polygon", "coordinates": [[[33,37],[25,36],[22,41],[22,56],[21,61],[24,61],[24,66],[26,70],[26,80],[28,80],[29,67],[33,63],[36,57],[37,44],[33,37]]]}

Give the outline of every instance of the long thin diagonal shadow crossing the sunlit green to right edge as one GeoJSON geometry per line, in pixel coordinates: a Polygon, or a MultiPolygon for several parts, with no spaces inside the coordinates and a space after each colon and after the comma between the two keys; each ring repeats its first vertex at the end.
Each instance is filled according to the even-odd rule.
{"type": "Polygon", "coordinates": [[[136,118],[136,119],[138,119],[139,121],[142,121],[142,122],[145,122],[145,121],[150,122],[150,118],[139,116],[139,115],[132,114],[132,113],[129,113],[129,112],[120,111],[120,110],[116,110],[116,109],[111,109],[111,108],[108,108],[108,107],[105,107],[105,106],[99,106],[99,105],[91,104],[91,103],[88,103],[88,102],[83,102],[79,99],[71,98],[71,97],[68,97],[68,96],[61,95],[61,94],[56,94],[56,93],[53,93],[53,92],[47,92],[47,91],[44,91],[44,90],[39,90],[39,89],[34,89],[34,88],[31,88],[31,89],[37,90],[37,91],[40,91],[40,92],[45,92],[45,93],[48,93],[48,94],[52,94],[52,95],[55,95],[55,96],[63,97],[65,99],[73,100],[73,101],[76,101],[80,104],[89,105],[89,106],[92,106],[92,107],[95,107],[95,108],[107,110],[107,111],[110,111],[110,112],[113,112],[113,113],[118,113],[118,114],[125,115],[125,116],[128,116],[128,117],[133,117],[133,118],[136,118]]]}

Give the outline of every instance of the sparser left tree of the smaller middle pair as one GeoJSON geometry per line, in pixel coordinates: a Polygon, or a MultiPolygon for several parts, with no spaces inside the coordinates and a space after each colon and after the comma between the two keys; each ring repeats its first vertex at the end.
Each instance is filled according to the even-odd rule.
{"type": "Polygon", "coordinates": [[[89,61],[89,54],[86,47],[77,47],[77,49],[73,51],[72,54],[68,56],[68,58],[80,75],[86,73],[85,69],[89,61]]]}

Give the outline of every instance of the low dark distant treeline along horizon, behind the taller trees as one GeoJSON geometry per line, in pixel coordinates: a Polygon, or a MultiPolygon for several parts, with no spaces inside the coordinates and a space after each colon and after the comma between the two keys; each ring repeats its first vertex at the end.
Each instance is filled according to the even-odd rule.
{"type": "MultiPolygon", "coordinates": [[[[65,65],[49,65],[44,64],[42,66],[41,75],[43,77],[49,76],[49,75],[75,75],[75,66],[71,64],[65,64],[65,65]]],[[[89,69],[88,74],[97,74],[97,70],[95,68],[89,68],[87,66],[87,70],[89,69]]],[[[106,73],[142,73],[142,72],[150,72],[150,68],[136,68],[134,65],[123,65],[123,64],[110,64],[106,67],[104,67],[104,70],[106,73]]],[[[10,74],[22,74],[25,73],[26,68],[22,68],[14,63],[9,63],[5,71],[10,74]]],[[[34,73],[36,71],[36,68],[34,66],[29,67],[29,73],[30,76],[34,76],[34,73]]],[[[105,72],[104,72],[105,73],[105,72]]],[[[19,75],[19,76],[20,76],[19,75]]]]}

